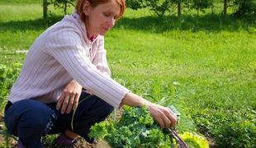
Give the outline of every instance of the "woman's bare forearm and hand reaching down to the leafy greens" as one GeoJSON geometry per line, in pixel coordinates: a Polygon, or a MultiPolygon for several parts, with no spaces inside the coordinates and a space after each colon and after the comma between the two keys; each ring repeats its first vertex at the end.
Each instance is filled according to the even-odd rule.
{"type": "Polygon", "coordinates": [[[160,127],[162,128],[173,127],[177,124],[177,116],[171,111],[171,109],[168,109],[159,104],[153,104],[148,100],[141,98],[139,95],[135,95],[132,92],[126,94],[125,98],[121,101],[121,105],[122,104],[139,107],[145,105],[146,109],[149,110],[151,116],[159,123],[160,127]]]}

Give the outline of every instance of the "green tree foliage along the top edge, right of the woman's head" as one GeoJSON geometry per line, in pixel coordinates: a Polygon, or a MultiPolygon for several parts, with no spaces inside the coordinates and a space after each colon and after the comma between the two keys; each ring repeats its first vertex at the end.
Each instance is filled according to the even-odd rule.
{"type": "MultiPolygon", "coordinates": [[[[206,12],[206,9],[213,10],[214,0],[127,0],[127,7],[137,10],[147,7],[157,16],[164,16],[172,14],[173,10],[177,9],[178,16],[181,16],[183,8],[188,10],[196,10],[199,12],[206,12]],[[169,13],[168,13],[169,12],[169,13]]],[[[223,0],[223,14],[227,14],[228,7],[236,7],[233,12],[234,16],[240,17],[245,15],[256,14],[256,0],[223,0]],[[230,5],[230,4],[233,5],[230,5]]],[[[213,11],[212,11],[213,12],[213,11]]]]}

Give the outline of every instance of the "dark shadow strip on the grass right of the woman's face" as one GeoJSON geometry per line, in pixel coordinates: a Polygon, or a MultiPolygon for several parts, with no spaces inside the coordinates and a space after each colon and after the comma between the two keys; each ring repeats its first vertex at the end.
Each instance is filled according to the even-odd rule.
{"type": "Polygon", "coordinates": [[[218,32],[221,30],[236,31],[247,30],[248,27],[256,28],[256,17],[249,16],[246,19],[235,19],[232,16],[206,15],[206,16],[145,16],[140,18],[122,18],[116,28],[129,30],[145,30],[162,33],[169,30],[207,30],[218,32]]]}

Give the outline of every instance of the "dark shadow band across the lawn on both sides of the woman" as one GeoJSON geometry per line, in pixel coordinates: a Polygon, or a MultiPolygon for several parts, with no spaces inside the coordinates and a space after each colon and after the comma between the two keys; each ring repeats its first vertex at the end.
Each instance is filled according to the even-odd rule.
{"type": "MultiPolygon", "coordinates": [[[[45,30],[63,16],[50,16],[46,20],[36,19],[31,21],[8,21],[0,22],[0,30],[45,30]]],[[[170,30],[207,30],[219,32],[221,30],[237,31],[247,30],[253,27],[256,30],[256,17],[235,19],[231,16],[205,15],[205,16],[144,16],[139,18],[124,17],[116,24],[116,29],[143,30],[148,32],[162,33],[170,30]]]]}

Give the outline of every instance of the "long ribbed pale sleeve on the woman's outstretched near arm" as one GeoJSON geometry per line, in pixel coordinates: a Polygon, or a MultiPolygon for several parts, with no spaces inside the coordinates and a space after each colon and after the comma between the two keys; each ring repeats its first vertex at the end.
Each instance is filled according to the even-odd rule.
{"type": "Polygon", "coordinates": [[[89,60],[82,46],[83,36],[72,27],[52,31],[45,40],[47,53],[53,56],[78,83],[93,95],[118,108],[130,92],[126,87],[100,72],[89,60]]]}

